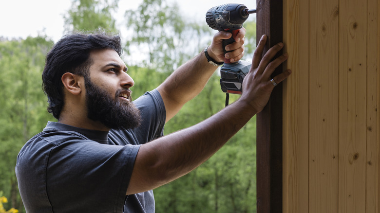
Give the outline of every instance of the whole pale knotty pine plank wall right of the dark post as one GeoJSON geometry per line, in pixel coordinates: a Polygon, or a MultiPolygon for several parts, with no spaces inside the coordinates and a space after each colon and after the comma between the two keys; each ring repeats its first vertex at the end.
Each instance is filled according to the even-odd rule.
{"type": "Polygon", "coordinates": [[[283,5],[283,212],[379,213],[380,1],[283,5]]]}

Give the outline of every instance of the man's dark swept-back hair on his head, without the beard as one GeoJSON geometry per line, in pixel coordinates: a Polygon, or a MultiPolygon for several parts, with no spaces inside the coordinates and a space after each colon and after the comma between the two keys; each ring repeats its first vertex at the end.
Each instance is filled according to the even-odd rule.
{"type": "Polygon", "coordinates": [[[70,33],[64,35],[46,55],[42,72],[42,89],[48,97],[48,112],[59,119],[64,105],[61,77],[66,72],[88,76],[93,61],[93,50],[113,49],[119,56],[122,53],[120,36],[104,31],[93,33],[70,33]]]}

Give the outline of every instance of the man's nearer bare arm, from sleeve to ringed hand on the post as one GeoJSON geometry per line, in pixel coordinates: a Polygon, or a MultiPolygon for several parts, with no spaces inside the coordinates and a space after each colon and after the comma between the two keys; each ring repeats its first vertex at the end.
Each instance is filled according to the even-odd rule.
{"type": "MultiPolygon", "coordinates": [[[[270,62],[282,49],[281,43],[269,49],[261,58],[265,43],[266,36],[263,36],[238,101],[199,124],[141,145],[127,195],[157,188],[188,174],[209,159],[252,116],[263,109],[274,88],[269,81],[270,75],[287,59],[287,54],[284,54],[270,62]]],[[[287,70],[275,76],[274,80],[280,83],[289,75],[290,70],[287,70]]]]}

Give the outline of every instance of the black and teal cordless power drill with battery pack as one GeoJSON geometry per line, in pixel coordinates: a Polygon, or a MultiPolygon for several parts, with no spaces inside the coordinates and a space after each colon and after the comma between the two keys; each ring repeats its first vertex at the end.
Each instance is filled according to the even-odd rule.
{"type": "MultiPolygon", "coordinates": [[[[248,15],[256,13],[256,9],[248,10],[244,4],[228,3],[212,7],[206,13],[206,22],[214,30],[227,31],[232,33],[229,39],[223,40],[223,50],[226,46],[235,41],[239,29],[243,27],[248,15]]],[[[228,105],[228,93],[242,94],[243,79],[247,75],[251,64],[247,61],[239,60],[231,63],[225,58],[225,63],[220,68],[220,86],[223,92],[227,93],[226,106],[228,105]]]]}

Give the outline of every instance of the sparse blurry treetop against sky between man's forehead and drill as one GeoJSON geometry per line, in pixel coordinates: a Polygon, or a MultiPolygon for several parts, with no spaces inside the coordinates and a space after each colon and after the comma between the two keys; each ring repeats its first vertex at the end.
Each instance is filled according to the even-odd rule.
{"type": "Polygon", "coordinates": [[[185,22],[178,11],[175,2],[165,0],[143,0],[137,10],[126,11],[128,28],[133,31],[125,49],[130,65],[173,71],[209,43],[210,28],[185,22]],[[135,58],[142,55],[146,56],[143,60],[135,58]]]}

